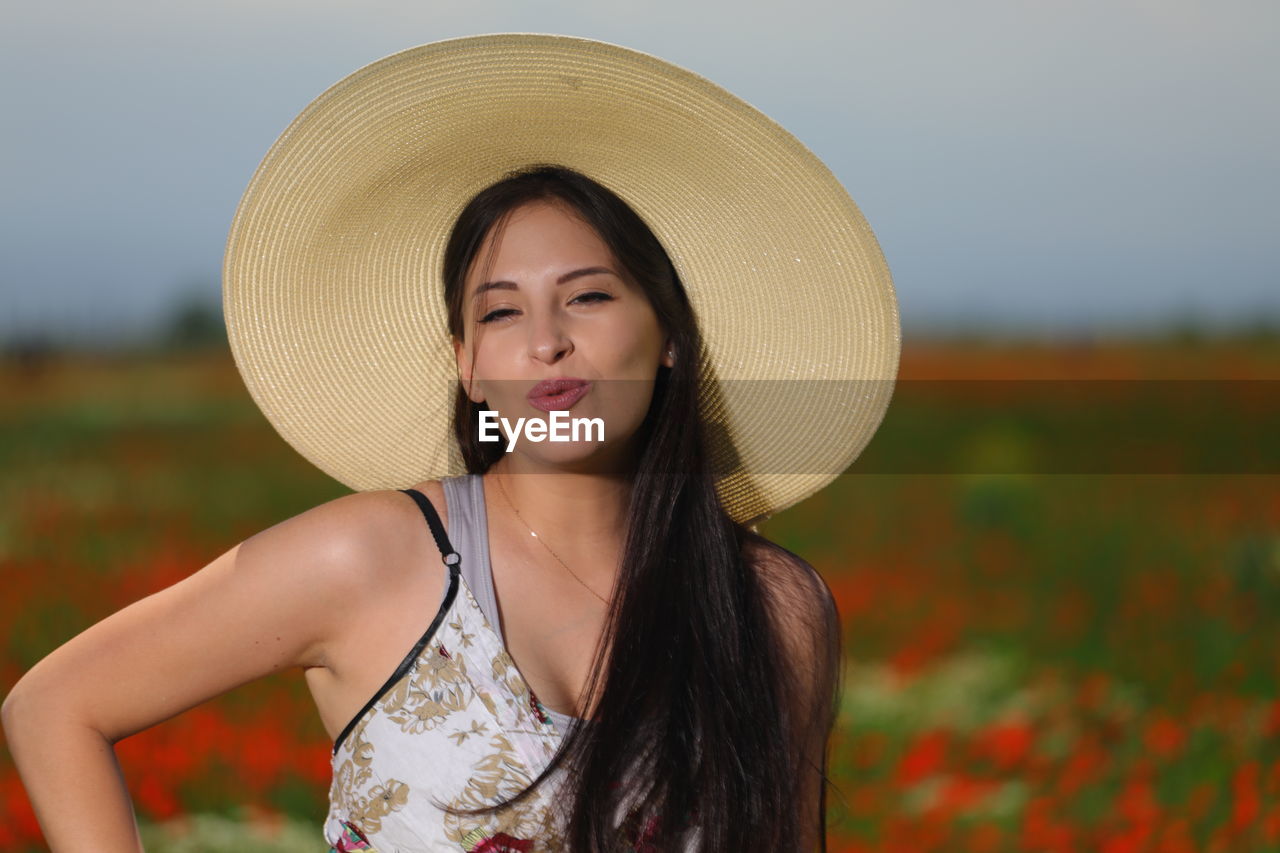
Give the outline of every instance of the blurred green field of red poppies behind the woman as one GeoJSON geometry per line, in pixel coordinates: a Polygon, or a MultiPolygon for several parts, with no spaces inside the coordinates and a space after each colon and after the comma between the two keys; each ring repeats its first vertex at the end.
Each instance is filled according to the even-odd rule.
{"type": "MultiPolygon", "coordinates": [[[[346,492],[224,352],[0,370],[5,690],[346,492]]],[[[1276,380],[1275,339],[905,348],[863,457],[764,525],[842,612],[833,849],[1280,850],[1276,380]]],[[[320,850],[328,747],[294,672],[118,753],[148,850],[320,850]]],[[[41,849],[8,752],[0,808],[41,849]]]]}

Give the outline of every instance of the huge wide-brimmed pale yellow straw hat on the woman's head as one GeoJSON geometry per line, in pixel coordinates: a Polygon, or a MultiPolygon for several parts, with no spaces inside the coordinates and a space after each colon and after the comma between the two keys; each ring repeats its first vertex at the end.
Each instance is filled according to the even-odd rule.
{"type": "Polygon", "coordinates": [[[343,78],[284,131],[232,223],[223,300],[253,400],[356,491],[465,471],[440,259],[509,170],[556,163],[663,243],[708,355],[703,414],[730,514],[759,520],[861,452],[888,406],[890,272],[823,163],[698,74],[553,35],[451,38],[343,78]]]}

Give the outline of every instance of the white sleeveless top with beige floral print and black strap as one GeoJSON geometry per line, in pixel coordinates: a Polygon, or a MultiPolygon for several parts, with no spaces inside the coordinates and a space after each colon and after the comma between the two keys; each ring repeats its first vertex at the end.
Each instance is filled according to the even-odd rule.
{"type": "Polygon", "coordinates": [[[563,767],[494,813],[457,816],[438,806],[475,808],[524,790],[573,721],[538,701],[507,653],[481,478],[442,483],[448,534],[426,496],[401,489],[422,510],[449,578],[426,631],[334,743],[329,853],[564,850],[563,767]]]}

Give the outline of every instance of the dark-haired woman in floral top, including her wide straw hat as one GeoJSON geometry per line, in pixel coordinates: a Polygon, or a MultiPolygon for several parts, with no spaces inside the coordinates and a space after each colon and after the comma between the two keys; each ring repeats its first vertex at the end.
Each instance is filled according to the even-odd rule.
{"type": "MultiPolygon", "coordinates": [[[[294,666],[335,740],[325,825],[333,850],[824,849],[838,620],[817,573],[746,523],[841,470],[785,467],[796,452],[847,464],[869,438],[887,402],[883,366],[896,365],[892,289],[887,272],[865,273],[878,250],[849,238],[860,220],[838,193],[826,210],[815,193],[801,196],[788,216],[791,202],[780,202],[768,181],[739,188],[710,174],[750,142],[741,127],[719,149],[708,146],[714,163],[684,175],[691,149],[677,161],[662,146],[628,146],[654,128],[641,108],[652,106],[655,81],[685,87],[684,97],[658,104],[669,120],[663,140],[684,132],[705,145],[714,122],[691,124],[687,99],[712,95],[707,109],[728,102],[705,81],[653,63],[548,36],[438,42],[339,83],[268,155],[228,246],[233,350],[282,434],[360,491],[264,530],[92,626],[10,693],[6,733],[54,850],[138,849],[111,744],[294,666]],[[508,77],[486,79],[486,68],[508,77]],[[591,91],[620,68],[644,72],[621,101],[637,114],[621,123],[618,92],[591,91]],[[410,86],[407,73],[425,77],[410,86]],[[472,96],[460,101],[466,109],[421,95],[454,95],[457,86],[472,96]],[[412,109],[397,100],[404,91],[412,109]],[[390,92],[380,96],[385,109],[374,104],[379,92],[390,92]],[[530,104],[530,92],[545,102],[530,104]],[[477,105],[476,93],[492,99],[477,105]],[[511,132],[439,129],[451,115],[470,128],[477,114],[511,132]],[[436,128],[430,143],[421,141],[425,115],[436,128]],[[346,117],[349,136],[335,117],[346,117]],[[379,128],[389,136],[379,138],[379,128]],[[585,131],[614,159],[584,151],[585,131]],[[321,137],[325,151],[347,138],[361,147],[316,169],[321,137]],[[406,150],[410,138],[416,147],[406,150]],[[531,158],[534,143],[548,156],[531,158]],[[628,199],[586,169],[531,165],[575,158],[630,187],[628,199]],[[449,196],[466,201],[458,213],[442,199],[442,175],[476,163],[449,196]],[[645,188],[662,184],[655,165],[672,172],[678,193],[645,188]],[[364,177],[335,183],[352,173],[364,177]],[[728,190],[712,192],[719,187],[728,190]],[[698,197],[719,218],[681,224],[698,213],[698,197]],[[739,224],[764,225],[735,228],[748,238],[712,241],[700,260],[701,233],[733,218],[726,199],[737,204],[739,224]],[[844,216],[835,227],[832,210],[844,216]],[[773,225],[780,216],[826,224],[822,233],[773,225]],[[442,218],[447,241],[436,240],[442,218]],[[833,234],[856,251],[837,251],[833,234]],[[826,278],[844,277],[788,295],[822,302],[791,306],[808,336],[799,347],[837,343],[787,352],[768,330],[741,339],[751,324],[728,343],[705,341],[698,320],[709,316],[722,334],[731,311],[788,329],[771,315],[767,293],[751,292],[750,274],[717,279],[704,260],[797,247],[796,264],[820,247],[826,278]],[[439,301],[406,301],[436,260],[439,301]],[[850,260],[858,270],[829,274],[832,261],[850,260]],[[845,291],[863,301],[878,295],[882,314],[850,307],[858,300],[840,298],[845,291]],[[411,360],[429,350],[397,325],[416,310],[430,313],[419,334],[438,320],[447,327],[452,418],[439,416],[447,397],[433,387],[439,357],[411,377],[388,366],[399,364],[396,353],[411,360]],[[822,386],[795,400],[827,409],[826,424],[805,426],[806,407],[794,406],[783,432],[767,429],[786,412],[741,401],[759,396],[760,383],[776,398],[769,380],[797,365],[837,364],[831,375],[850,378],[854,342],[828,332],[847,334],[854,318],[861,345],[879,355],[858,365],[879,380],[859,414],[840,421],[838,406],[822,406],[829,397],[813,396],[831,393],[822,386]],[[769,343],[755,361],[783,368],[773,375],[732,355],[769,343]],[[333,365],[340,373],[326,371],[333,365]],[[735,378],[758,382],[724,382],[735,368],[735,378]],[[298,401],[308,414],[297,414],[298,401]],[[481,411],[508,423],[570,411],[599,419],[603,435],[539,442],[526,430],[486,442],[481,411]],[[335,433],[325,418],[346,423],[335,433]],[[442,420],[461,466],[442,461],[442,420]],[[769,435],[782,447],[773,457],[762,453],[769,435]],[[376,487],[408,471],[435,475],[407,489],[376,487]],[[440,562],[430,558],[435,549],[440,562]]],[[[730,104],[735,120],[768,127],[730,104]]],[[[755,152],[795,155],[787,145],[760,142],[755,152]]],[[[833,182],[809,161],[777,177],[827,190],[833,182]]],[[[774,293],[800,280],[790,268],[790,279],[774,273],[765,268],[754,280],[774,293]]]]}

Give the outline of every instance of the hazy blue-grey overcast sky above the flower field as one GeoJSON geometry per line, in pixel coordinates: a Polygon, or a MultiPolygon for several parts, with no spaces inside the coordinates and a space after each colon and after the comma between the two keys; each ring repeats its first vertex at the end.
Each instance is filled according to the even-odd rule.
{"type": "Polygon", "coordinates": [[[1280,319],[1275,0],[88,0],[0,31],[0,334],[220,300],[236,204],[306,104],[404,47],[655,54],[841,179],[904,328],[1280,319]]]}

